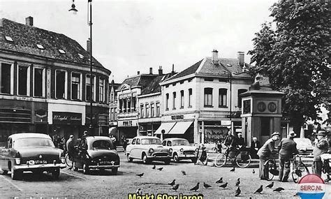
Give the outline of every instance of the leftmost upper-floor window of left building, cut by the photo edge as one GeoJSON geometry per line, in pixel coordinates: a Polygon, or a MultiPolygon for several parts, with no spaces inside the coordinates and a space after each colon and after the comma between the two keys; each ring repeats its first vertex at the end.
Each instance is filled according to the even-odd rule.
{"type": "Polygon", "coordinates": [[[12,94],[13,91],[13,67],[11,64],[1,63],[0,66],[0,93],[12,94]]]}

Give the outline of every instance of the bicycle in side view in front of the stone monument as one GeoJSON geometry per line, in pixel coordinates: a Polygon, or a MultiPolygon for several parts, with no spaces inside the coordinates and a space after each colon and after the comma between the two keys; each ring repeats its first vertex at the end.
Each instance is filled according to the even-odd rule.
{"type": "Polygon", "coordinates": [[[240,168],[247,168],[251,163],[251,155],[246,150],[229,151],[230,148],[226,149],[226,152],[218,154],[215,158],[214,165],[218,168],[226,164],[226,161],[230,161],[234,164],[236,163],[240,168]],[[235,153],[235,154],[233,154],[235,153]]]}

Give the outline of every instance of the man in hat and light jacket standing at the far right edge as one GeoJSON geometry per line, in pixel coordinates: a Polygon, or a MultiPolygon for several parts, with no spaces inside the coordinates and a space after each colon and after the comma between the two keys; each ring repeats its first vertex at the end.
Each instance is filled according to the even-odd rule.
{"type": "Polygon", "coordinates": [[[322,166],[323,166],[323,162],[321,160],[321,154],[328,153],[329,142],[326,139],[325,131],[318,131],[318,133],[316,133],[316,136],[317,136],[317,142],[316,142],[314,150],[313,150],[313,155],[314,155],[313,172],[316,175],[321,176],[322,175],[322,166]]]}

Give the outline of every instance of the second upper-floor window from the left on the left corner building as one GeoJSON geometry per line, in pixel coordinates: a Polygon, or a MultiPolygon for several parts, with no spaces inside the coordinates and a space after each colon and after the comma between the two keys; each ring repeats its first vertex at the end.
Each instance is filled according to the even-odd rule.
{"type": "Polygon", "coordinates": [[[17,71],[17,94],[20,96],[29,95],[30,73],[29,66],[18,66],[17,71]]]}

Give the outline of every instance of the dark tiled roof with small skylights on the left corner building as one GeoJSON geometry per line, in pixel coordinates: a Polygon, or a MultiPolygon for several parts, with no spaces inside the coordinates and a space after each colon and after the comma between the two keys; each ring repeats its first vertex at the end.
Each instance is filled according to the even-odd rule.
{"type": "MultiPolygon", "coordinates": [[[[90,63],[89,52],[68,36],[13,22],[6,18],[0,20],[0,50],[74,64],[90,63]],[[6,37],[12,38],[13,41],[7,40],[6,37]],[[37,45],[42,45],[43,49],[37,45]]],[[[94,66],[104,68],[94,58],[93,62],[94,66]]]]}

